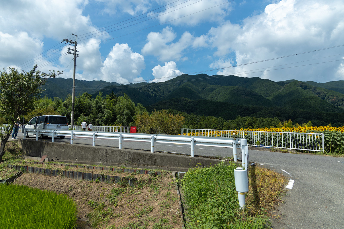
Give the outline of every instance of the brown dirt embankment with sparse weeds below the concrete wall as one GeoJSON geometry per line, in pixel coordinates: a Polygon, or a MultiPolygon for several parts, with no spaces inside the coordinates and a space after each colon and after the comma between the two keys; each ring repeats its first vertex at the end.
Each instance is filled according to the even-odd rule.
{"type": "Polygon", "coordinates": [[[71,197],[77,204],[78,228],[182,228],[171,172],[162,171],[161,175],[114,172],[113,175],[137,178],[138,182],[128,186],[24,173],[14,183],[71,197]]]}

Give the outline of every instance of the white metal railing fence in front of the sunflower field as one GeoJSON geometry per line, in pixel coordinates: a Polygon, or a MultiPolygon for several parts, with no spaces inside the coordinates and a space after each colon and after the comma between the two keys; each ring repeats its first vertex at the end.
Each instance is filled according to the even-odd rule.
{"type": "Polygon", "coordinates": [[[248,146],[324,151],[324,134],[250,130],[181,129],[181,135],[246,138],[248,146]]]}

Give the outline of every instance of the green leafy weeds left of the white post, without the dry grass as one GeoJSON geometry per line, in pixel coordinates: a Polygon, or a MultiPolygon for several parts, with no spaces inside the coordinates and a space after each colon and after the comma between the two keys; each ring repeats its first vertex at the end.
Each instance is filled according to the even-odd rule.
{"type": "Polygon", "coordinates": [[[188,229],[265,228],[266,216],[252,214],[251,206],[239,210],[234,181],[236,167],[239,167],[236,163],[221,162],[209,168],[194,168],[185,174],[182,190],[188,229]]]}

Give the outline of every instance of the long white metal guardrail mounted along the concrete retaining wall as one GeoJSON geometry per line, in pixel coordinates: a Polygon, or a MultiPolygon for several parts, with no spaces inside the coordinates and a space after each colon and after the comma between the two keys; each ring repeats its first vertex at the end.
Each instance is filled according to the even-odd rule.
{"type": "MultiPolygon", "coordinates": [[[[26,133],[36,135],[38,141],[40,135],[52,136],[54,142],[56,136],[70,136],[71,144],[73,137],[92,138],[92,146],[95,146],[96,139],[114,139],[119,140],[119,149],[122,149],[122,140],[128,141],[146,141],[151,142],[151,152],[154,152],[154,142],[156,143],[173,143],[191,146],[191,156],[194,157],[194,146],[216,146],[233,148],[233,158],[237,161],[236,149],[240,145],[241,139],[233,138],[214,138],[214,137],[187,137],[180,135],[158,135],[158,134],[138,134],[138,133],[109,133],[101,131],[82,131],[82,130],[47,130],[47,129],[24,129],[24,139],[26,133]]],[[[241,147],[240,147],[241,148],[241,147]]]]}

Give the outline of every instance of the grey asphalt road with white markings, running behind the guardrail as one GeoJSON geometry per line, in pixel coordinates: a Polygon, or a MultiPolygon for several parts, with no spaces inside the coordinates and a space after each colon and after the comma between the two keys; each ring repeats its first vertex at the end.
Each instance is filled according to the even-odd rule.
{"type": "MultiPolygon", "coordinates": [[[[55,142],[70,142],[70,138],[55,138],[55,142]]],[[[74,138],[74,143],[92,145],[92,138],[74,138]]],[[[96,139],[96,146],[118,147],[118,140],[96,139]]],[[[122,148],[150,151],[150,142],[122,141],[122,148]]],[[[190,146],[178,144],[154,144],[154,150],[191,154],[190,146]]],[[[233,150],[195,146],[195,155],[231,157],[233,150]]],[[[272,228],[344,228],[344,158],[249,150],[249,161],[290,179],[285,203],[278,207],[280,218],[272,228]]]]}

